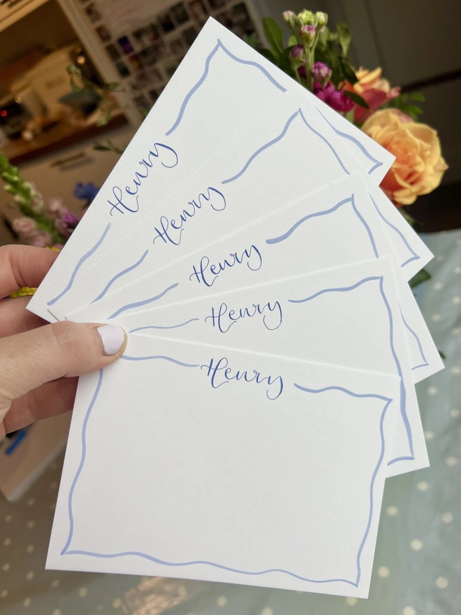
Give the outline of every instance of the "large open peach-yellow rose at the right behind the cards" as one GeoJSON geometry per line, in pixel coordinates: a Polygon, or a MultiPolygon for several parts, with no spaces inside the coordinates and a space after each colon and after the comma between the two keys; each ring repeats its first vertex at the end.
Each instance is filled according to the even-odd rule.
{"type": "Polygon", "coordinates": [[[397,207],[411,205],[440,184],[448,166],[433,128],[397,109],[383,109],[370,115],[362,130],[395,156],[381,188],[397,207]]]}

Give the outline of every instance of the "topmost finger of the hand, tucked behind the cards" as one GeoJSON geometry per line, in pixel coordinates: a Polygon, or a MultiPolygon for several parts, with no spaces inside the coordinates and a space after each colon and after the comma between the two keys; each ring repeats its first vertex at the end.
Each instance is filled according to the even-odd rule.
{"type": "Polygon", "coordinates": [[[36,288],[57,259],[59,252],[28,245],[0,247],[0,297],[26,286],[36,288]]]}

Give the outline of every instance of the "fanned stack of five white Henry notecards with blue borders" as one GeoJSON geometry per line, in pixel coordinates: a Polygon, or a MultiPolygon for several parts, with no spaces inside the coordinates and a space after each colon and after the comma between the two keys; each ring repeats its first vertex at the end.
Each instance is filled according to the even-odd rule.
{"type": "Polygon", "coordinates": [[[367,597],[442,368],[392,161],[207,22],[29,304],[129,333],[80,379],[48,567],[367,597]]]}

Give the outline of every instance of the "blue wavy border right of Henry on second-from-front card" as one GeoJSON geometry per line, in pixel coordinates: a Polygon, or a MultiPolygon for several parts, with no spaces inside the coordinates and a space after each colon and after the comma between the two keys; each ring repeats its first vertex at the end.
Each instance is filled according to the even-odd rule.
{"type": "Polygon", "coordinates": [[[383,276],[382,275],[372,275],[369,277],[364,277],[363,280],[359,280],[358,282],[356,282],[356,284],[352,284],[349,287],[322,289],[321,291],[315,293],[314,295],[311,295],[304,299],[288,299],[288,301],[290,303],[306,303],[307,301],[312,301],[312,299],[315,299],[316,297],[319,297],[325,293],[333,293],[333,292],[346,293],[346,292],[352,291],[362,286],[362,284],[366,284],[367,282],[376,282],[376,281],[379,281],[379,293],[386,307],[386,311],[388,312],[390,352],[393,356],[395,367],[397,369],[397,375],[400,379],[400,414],[402,416],[402,421],[404,423],[405,431],[407,433],[407,440],[408,440],[409,450],[410,450],[409,456],[396,457],[388,461],[388,465],[392,465],[396,461],[413,461],[415,457],[414,457],[414,447],[413,447],[413,435],[411,433],[411,426],[409,424],[409,419],[407,416],[407,390],[405,388],[405,383],[404,383],[404,379],[402,375],[402,366],[400,366],[400,361],[397,357],[397,353],[395,352],[394,321],[393,321],[392,311],[390,310],[388,298],[386,297],[386,293],[384,292],[384,288],[383,288],[383,276]]]}

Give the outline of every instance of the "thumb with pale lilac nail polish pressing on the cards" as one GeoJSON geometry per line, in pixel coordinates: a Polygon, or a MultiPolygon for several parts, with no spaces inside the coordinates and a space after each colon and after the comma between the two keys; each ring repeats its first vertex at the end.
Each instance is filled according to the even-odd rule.
{"type": "Polygon", "coordinates": [[[0,339],[0,422],[13,400],[37,386],[110,365],[126,339],[119,326],[71,321],[0,339]]]}

